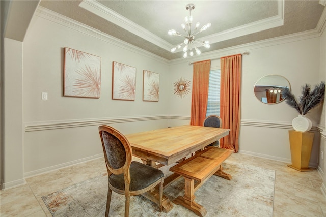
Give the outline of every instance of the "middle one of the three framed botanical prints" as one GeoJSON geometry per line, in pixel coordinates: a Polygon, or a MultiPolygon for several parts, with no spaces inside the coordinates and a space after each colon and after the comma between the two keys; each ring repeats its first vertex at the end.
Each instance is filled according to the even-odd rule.
{"type": "Polygon", "coordinates": [[[115,61],[112,65],[112,99],[135,100],[136,68],[115,61]]]}

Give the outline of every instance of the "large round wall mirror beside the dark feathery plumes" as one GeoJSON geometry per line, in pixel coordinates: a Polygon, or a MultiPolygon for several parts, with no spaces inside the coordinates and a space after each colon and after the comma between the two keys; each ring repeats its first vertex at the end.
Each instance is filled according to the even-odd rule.
{"type": "Polygon", "coordinates": [[[260,102],[275,104],[282,102],[282,91],[290,90],[289,81],[281,75],[266,75],[260,78],[254,87],[255,96],[260,102]]]}

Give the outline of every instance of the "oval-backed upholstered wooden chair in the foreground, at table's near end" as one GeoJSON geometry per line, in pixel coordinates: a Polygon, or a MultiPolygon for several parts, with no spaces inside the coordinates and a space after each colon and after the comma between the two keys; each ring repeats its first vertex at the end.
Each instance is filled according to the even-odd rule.
{"type": "Polygon", "coordinates": [[[116,129],[98,127],[108,173],[105,216],[110,211],[112,191],[125,195],[125,216],[129,216],[130,196],[140,195],[159,186],[159,211],[162,211],[164,174],[161,170],[132,161],[132,149],[127,138],[116,129]]]}

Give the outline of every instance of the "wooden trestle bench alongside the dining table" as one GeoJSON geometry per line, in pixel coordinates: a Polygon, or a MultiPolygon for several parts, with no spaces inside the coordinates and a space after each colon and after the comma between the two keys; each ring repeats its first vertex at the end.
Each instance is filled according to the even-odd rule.
{"type": "Polygon", "coordinates": [[[170,171],[184,177],[184,195],[177,197],[173,202],[194,211],[198,216],[205,216],[207,211],[205,207],[194,201],[194,194],[212,175],[218,175],[228,180],[232,179],[232,176],[223,172],[222,168],[222,163],[232,153],[231,150],[208,147],[171,167],[170,171]]]}

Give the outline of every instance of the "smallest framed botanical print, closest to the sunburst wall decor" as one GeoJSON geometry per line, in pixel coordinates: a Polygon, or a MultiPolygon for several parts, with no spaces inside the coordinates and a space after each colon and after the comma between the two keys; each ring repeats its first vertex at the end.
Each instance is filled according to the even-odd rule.
{"type": "Polygon", "coordinates": [[[143,71],[143,101],[158,102],[159,96],[159,74],[143,71]]]}

